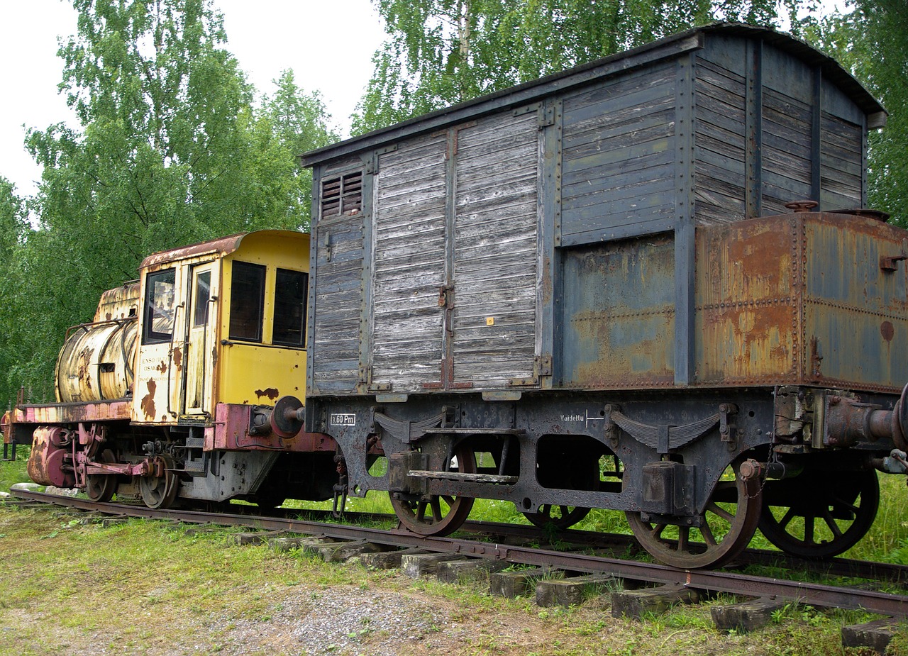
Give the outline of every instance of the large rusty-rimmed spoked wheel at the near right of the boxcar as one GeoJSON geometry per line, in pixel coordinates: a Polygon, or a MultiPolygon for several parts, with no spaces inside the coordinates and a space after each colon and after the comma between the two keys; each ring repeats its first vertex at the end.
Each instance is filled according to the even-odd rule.
{"type": "Polygon", "coordinates": [[[640,513],[630,511],[627,522],[637,542],[656,560],[686,570],[717,567],[750,543],[760,518],[760,496],[759,480],[745,481],[733,465],[699,516],[701,527],[645,522],[640,513]]]}

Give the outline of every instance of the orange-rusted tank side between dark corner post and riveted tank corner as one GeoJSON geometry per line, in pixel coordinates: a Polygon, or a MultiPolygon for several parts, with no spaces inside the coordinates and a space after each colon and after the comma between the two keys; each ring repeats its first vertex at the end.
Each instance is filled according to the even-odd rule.
{"type": "Polygon", "coordinates": [[[697,385],[795,381],[799,233],[786,217],[697,230],[697,385]]]}

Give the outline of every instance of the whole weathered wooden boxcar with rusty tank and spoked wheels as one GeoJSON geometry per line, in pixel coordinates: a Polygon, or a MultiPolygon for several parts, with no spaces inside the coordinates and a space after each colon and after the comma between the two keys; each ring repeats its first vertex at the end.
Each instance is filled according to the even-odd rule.
{"type": "Polygon", "coordinates": [[[810,46],[715,24],[307,153],[307,429],[421,533],[485,497],[626,511],[679,566],[761,515],[844,551],[904,445],[908,232],[857,211],[884,122],[810,46]]]}

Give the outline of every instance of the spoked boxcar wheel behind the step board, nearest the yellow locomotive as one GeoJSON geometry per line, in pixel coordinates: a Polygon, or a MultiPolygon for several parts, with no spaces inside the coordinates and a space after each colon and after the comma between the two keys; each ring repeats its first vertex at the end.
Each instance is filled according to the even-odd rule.
{"type": "MultiPolygon", "coordinates": [[[[449,471],[476,473],[476,456],[469,448],[459,447],[449,463],[449,471]],[[456,463],[456,465],[455,465],[456,463]]],[[[400,524],[420,535],[449,535],[467,520],[473,499],[467,496],[434,494],[429,499],[397,498],[390,495],[391,506],[400,524]]]]}

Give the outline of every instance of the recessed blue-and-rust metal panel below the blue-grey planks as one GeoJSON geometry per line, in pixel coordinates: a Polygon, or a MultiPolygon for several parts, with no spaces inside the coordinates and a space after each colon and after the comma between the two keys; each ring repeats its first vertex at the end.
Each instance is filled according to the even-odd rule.
{"type": "Polygon", "coordinates": [[[670,235],[565,252],[564,387],[674,384],[675,241],[670,235]]]}

